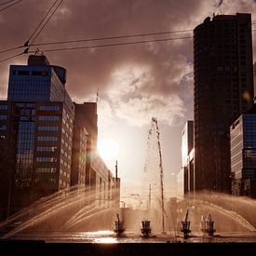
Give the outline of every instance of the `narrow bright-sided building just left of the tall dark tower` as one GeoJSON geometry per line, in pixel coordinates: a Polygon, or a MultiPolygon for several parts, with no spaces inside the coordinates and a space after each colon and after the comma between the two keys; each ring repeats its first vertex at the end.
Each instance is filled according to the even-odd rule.
{"type": "Polygon", "coordinates": [[[187,121],[182,130],[182,169],[178,174],[177,192],[180,197],[194,191],[194,122],[187,121]]]}

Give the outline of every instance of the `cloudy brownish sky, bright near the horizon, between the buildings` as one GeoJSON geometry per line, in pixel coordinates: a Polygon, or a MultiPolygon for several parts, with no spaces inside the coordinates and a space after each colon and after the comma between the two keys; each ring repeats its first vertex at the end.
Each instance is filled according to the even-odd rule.
{"type": "MultiPolygon", "coordinates": [[[[6,1],[0,1],[4,3],[6,1]]],[[[0,11],[0,51],[22,46],[33,34],[53,0],[23,0],[0,11]]],[[[1,10],[1,6],[0,6],[1,10]]],[[[253,0],[64,0],[34,43],[89,39],[126,34],[193,30],[206,17],[251,13],[253,0]]],[[[256,30],[256,25],[253,26],[256,30]]],[[[83,42],[61,47],[191,37],[192,32],[83,42]]],[[[253,33],[254,61],[256,32],[253,33]]],[[[175,195],[176,174],[182,162],[182,128],[193,119],[193,38],[118,47],[47,51],[60,46],[40,46],[51,64],[67,69],[66,88],[76,102],[96,101],[99,91],[99,141],[119,144],[122,196],[140,193],[148,129],[155,116],[159,124],[165,193],[175,195]]],[[[0,60],[24,48],[0,53],[0,60]]],[[[31,47],[30,50],[35,50],[31,47]]],[[[10,64],[26,64],[28,56],[0,62],[0,98],[7,98],[10,64]]],[[[115,171],[115,159],[107,162],[115,171]]]]}

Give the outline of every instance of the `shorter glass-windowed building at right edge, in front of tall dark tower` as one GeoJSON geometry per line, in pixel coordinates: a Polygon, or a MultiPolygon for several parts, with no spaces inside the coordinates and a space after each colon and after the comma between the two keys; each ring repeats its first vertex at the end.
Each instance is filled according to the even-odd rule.
{"type": "Polygon", "coordinates": [[[256,198],[256,105],[230,127],[232,194],[256,198]]]}

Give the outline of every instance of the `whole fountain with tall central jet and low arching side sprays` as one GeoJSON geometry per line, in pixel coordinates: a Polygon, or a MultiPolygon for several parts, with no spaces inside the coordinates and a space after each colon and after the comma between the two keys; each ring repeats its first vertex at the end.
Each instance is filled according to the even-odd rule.
{"type": "Polygon", "coordinates": [[[219,235],[210,239],[227,239],[227,234],[228,239],[232,239],[234,232],[249,234],[247,239],[255,239],[255,200],[205,192],[195,193],[193,200],[173,198],[170,203],[164,196],[162,153],[155,118],[152,119],[147,145],[144,186],[137,209],[116,208],[111,200],[99,206],[95,191],[71,187],[43,197],[5,222],[0,222],[2,238],[91,242],[96,238],[118,236],[118,241],[130,241],[128,237],[131,241],[141,241],[142,234],[143,237],[154,237],[155,241],[176,241],[179,237],[177,223],[183,219],[183,210],[186,209],[182,221],[184,238],[189,236],[191,230],[194,236],[190,239],[203,239],[201,231],[213,236],[216,228],[219,235]],[[208,216],[202,219],[203,222],[200,220],[202,215],[208,216]],[[211,216],[214,216],[215,222],[211,216]],[[126,236],[121,236],[124,232],[126,236]],[[152,236],[152,233],[157,236],[152,236]]]}

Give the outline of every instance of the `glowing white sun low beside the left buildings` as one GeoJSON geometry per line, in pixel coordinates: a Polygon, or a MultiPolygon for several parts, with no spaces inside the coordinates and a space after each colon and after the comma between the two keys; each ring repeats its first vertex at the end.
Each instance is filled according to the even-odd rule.
{"type": "Polygon", "coordinates": [[[99,141],[98,151],[104,160],[115,160],[119,153],[119,144],[113,139],[106,138],[99,141]]]}

